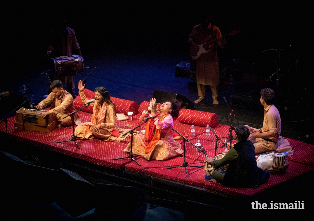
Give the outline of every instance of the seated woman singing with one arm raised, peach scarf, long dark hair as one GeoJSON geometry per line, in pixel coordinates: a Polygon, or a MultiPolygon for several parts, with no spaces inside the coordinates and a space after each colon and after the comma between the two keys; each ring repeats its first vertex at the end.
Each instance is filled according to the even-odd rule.
{"type": "MultiPolygon", "coordinates": [[[[82,102],[87,103],[84,94],[83,81],[78,81],[79,95],[82,102]]],[[[118,141],[121,142],[128,135],[122,137],[122,134],[129,131],[116,126],[116,107],[110,100],[110,95],[104,87],[95,88],[95,102],[90,103],[94,106],[91,122],[86,122],[82,126],[77,126],[74,135],[83,139],[98,138],[104,141],[118,141]]]]}

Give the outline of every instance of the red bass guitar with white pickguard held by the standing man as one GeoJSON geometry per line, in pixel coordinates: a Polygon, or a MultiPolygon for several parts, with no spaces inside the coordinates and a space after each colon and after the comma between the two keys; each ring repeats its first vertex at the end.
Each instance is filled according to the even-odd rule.
{"type": "MultiPolygon", "coordinates": [[[[236,35],[239,32],[240,30],[234,30],[224,35],[223,37],[228,36],[228,35],[236,35]]],[[[197,48],[192,47],[192,45],[190,45],[191,57],[195,60],[198,59],[199,56],[201,56],[202,54],[209,52],[210,51],[209,48],[211,48],[217,41],[219,41],[219,38],[215,40],[211,40],[210,36],[207,36],[202,41],[198,42],[199,44],[197,45],[197,48]]]]}

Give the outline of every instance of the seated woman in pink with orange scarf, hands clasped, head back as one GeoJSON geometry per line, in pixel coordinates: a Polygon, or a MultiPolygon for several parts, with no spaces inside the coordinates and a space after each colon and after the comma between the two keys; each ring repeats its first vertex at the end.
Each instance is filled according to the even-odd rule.
{"type": "MultiPolygon", "coordinates": [[[[133,137],[133,153],[139,154],[146,160],[166,160],[183,153],[181,144],[173,139],[173,117],[179,113],[178,101],[167,101],[156,110],[156,99],[150,100],[149,108],[143,111],[140,120],[153,116],[148,120],[144,134],[136,134],[133,137]]],[[[125,151],[130,152],[131,144],[125,151]]]]}

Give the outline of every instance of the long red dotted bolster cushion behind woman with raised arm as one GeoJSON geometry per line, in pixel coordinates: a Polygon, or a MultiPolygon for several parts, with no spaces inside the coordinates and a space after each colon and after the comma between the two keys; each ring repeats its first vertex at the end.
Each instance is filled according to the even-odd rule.
{"type": "MultiPolygon", "coordinates": [[[[84,88],[84,94],[88,100],[92,100],[95,97],[95,92],[90,91],[84,88]]],[[[138,114],[138,104],[134,101],[124,100],[116,97],[110,97],[110,100],[116,105],[116,112],[117,113],[124,113],[127,114],[128,112],[132,111],[133,114],[138,114]]],[[[80,96],[77,96],[74,99],[74,108],[80,109],[83,106],[83,102],[80,96]]],[[[93,113],[93,106],[89,106],[88,108],[84,108],[82,111],[87,113],[93,113]]]]}

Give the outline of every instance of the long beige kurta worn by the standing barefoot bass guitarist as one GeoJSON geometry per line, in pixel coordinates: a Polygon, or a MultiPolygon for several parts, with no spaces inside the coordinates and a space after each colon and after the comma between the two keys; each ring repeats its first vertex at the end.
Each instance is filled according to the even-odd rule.
{"type": "MultiPolygon", "coordinates": [[[[205,37],[210,36],[211,40],[221,37],[221,32],[218,27],[212,24],[208,27],[203,24],[196,25],[189,37],[189,43],[193,41],[195,44],[202,41],[205,37]],[[209,33],[210,32],[210,33],[209,33]]],[[[214,43],[209,48],[209,52],[201,55],[196,60],[196,82],[197,84],[218,86],[219,85],[219,62],[217,57],[217,45],[225,47],[220,41],[214,43]]]]}

